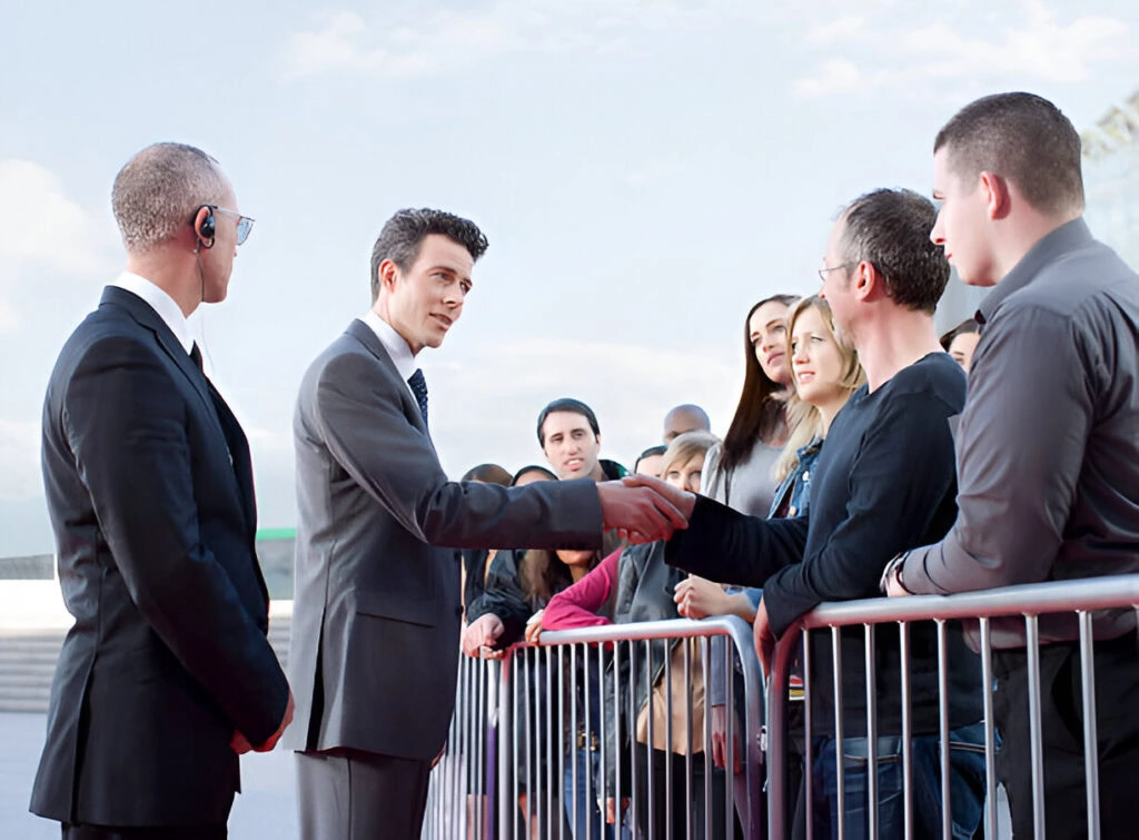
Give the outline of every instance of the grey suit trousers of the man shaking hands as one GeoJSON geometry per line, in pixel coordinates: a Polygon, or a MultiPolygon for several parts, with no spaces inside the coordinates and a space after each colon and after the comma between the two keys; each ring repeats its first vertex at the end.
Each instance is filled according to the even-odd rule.
{"type": "Polygon", "coordinates": [[[301,840],[419,840],[431,761],[349,749],[296,761],[301,840]]]}

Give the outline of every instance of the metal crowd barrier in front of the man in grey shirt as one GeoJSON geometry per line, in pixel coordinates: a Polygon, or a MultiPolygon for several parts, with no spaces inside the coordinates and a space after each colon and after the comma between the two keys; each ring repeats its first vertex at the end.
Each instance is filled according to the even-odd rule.
{"type": "MultiPolygon", "coordinates": [[[[902,780],[904,798],[904,837],[910,838],[913,833],[915,802],[912,790],[912,728],[907,709],[911,696],[910,656],[909,647],[910,626],[915,622],[934,622],[936,629],[937,649],[937,682],[939,682],[939,758],[940,758],[940,781],[941,781],[941,816],[942,837],[952,837],[951,814],[950,814],[950,749],[949,749],[949,675],[947,664],[947,622],[965,621],[967,628],[974,628],[972,634],[974,641],[980,645],[982,685],[990,691],[982,692],[984,709],[984,765],[985,765],[985,798],[982,824],[984,834],[988,838],[998,837],[998,792],[995,775],[995,756],[998,750],[998,736],[993,726],[993,634],[998,628],[1007,628],[1009,621],[1023,622],[1024,636],[1026,638],[1025,655],[1029,687],[1029,716],[1030,740],[1031,740],[1031,767],[1026,773],[1031,773],[1032,782],[1032,814],[1034,823],[1034,835],[1044,837],[1044,773],[1043,748],[1041,741],[1041,674],[1040,674],[1040,649],[1041,649],[1041,617],[1052,617],[1066,614],[1075,620],[1079,626],[1079,649],[1081,661],[1081,685],[1083,709],[1096,708],[1096,679],[1095,679],[1095,656],[1093,656],[1093,612],[1111,609],[1136,609],[1139,606],[1139,574],[1118,576],[1111,578],[1084,579],[1074,581],[1056,581],[1036,584],[1031,586],[1015,586],[1003,589],[991,589],[985,592],[941,596],[915,596],[906,598],[875,598],[869,601],[854,601],[847,603],[823,604],[814,611],[804,615],[795,627],[788,630],[776,647],[770,680],[768,683],[768,725],[765,729],[768,739],[768,826],[771,838],[789,837],[790,819],[788,816],[789,794],[788,790],[788,741],[790,732],[788,729],[788,694],[789,679],[797,666],[796,659],[801,659],[804,674],[804,744],[805,755],[803,759],[803,774],[805,776],[806,814],[812,815],[818,804],[812,801],[812,719],[811,693],[813,691],[834,691],[831,698],[839,695],[843,685],[842,656],[839,645],[839,631],[844,627],[862,627],[865,634],[863,650],[866,662],[866,739],[867,755],[866,766],[874,768],[867,775],[867,825],[845,825],[844,814],[839,810],[837,837],[870,837],[879,835],[877,825],[877,788],[878,762],[876,761],[877,734],[877,703],[882,695],[875,688],[875,639],[876,631],[883,625],[896,625],[899,631],[899,645],[901,652],[901,733],[900,744],[902,750],[902,780]],[[995,625],[995,626],[994,626],[995,625]],[[812,686],[811,674],[811,630],[828,629],[830,633],[831,663],[834,674],[833,686],[812,686]]],[[[1052,619],[1049,619],[1052,620],[1052,619]]],[[[883,628],[883,631],[885,629],[883,628]]],[[[1133,635],[1136,630],[1130,630],[1133,635]]],[[[826,636],[823,636],[826,638],[826,636]]],[[[847,664],[850,664],[847,662],[847,664]]],[[[837,781],[837,799],[846,802],[843,793],[843,778],[849,775],[845,770],[849,756],[844,756],[843,749],[843,716],[841,703],[831,702],[835,711],[834,737],[837,742],[835,750],[835,773],[837,781]]],[[[1136,711],[1139,713],[1139,710],[1136,711]]],[[[1087,773],[1085,797],[1088,826],[1087,837],[1098,839],[1099,832],[1099,776],[1097,768],[1097,732],[1096,715],[1084,715],[1083,727],[1083,752],[1087,773]]],[[[1050,804],[1051,805],[1051,804],[1050,804]]],[[[806,837],[813,835],[812,819],[810,816],[805,821],[806,837]]]]}

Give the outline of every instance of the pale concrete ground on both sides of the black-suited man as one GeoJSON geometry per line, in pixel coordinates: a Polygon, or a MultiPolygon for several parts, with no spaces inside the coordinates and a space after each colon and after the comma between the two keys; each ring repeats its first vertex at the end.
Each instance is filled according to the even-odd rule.
{"type": "MultiPolygon", "coordinates": [[[[44,715],[0,713],[0,838],[58,840],[59,824],[27,810],[43,747],[44,715]]],[[[293,753],[251,753],[241,759],[241,788],[229,818],[231,840],[296,840],[293,753]]]]}

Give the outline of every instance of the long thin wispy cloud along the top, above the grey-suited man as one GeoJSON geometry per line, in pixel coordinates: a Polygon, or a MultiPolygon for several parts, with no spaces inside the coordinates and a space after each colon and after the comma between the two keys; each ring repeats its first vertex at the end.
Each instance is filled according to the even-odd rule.
{"type": "Polygon", "coordinates": [[[369,23],[353,11],[326,13],[313,30],[292,35],[285,48],[287,79],[355,73],[405,79],[443,73],[487,56],[511,52],[636,51],[664,32],[707,31],[752,16],[744,0],[492,0],[462,8],[369,23]]]}

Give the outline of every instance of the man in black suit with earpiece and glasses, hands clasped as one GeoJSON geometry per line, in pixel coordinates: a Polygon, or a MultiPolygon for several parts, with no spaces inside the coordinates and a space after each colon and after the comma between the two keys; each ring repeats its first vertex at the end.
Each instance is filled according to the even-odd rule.
{"type": "Polygon", "coordinates": [[[32,810],[71,840],[227,834],[238,753],[292,718],[265,633],[253,468],[187,326],[226,299],[241,217],[216,161],[157,144],[118,173],[126,270],[64,345],[43,480],[75,623],[32,810]]]}

